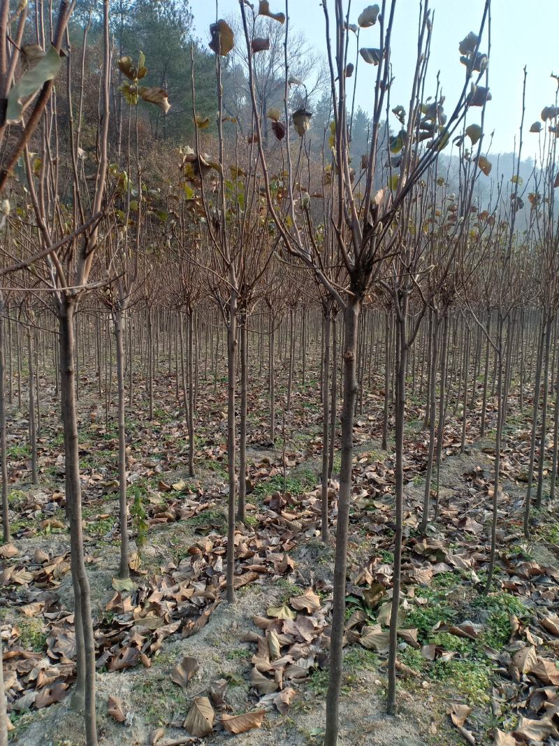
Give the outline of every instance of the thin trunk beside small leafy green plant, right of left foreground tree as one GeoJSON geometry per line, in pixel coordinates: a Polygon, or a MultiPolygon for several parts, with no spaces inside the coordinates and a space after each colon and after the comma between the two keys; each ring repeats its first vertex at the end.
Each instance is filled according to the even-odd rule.
{"type": "Polygon", "coordinates": [[[122,331],[124,316],[120,305],[113,312],[116,342],[116,387],[118,392],[117,426],[119,430],[119,515],[120,515],[120,567],[119,578],[130,577],[128,566],[128,505],[126,499],[126,430],[124,428],[124,343],[122,331]]]}

